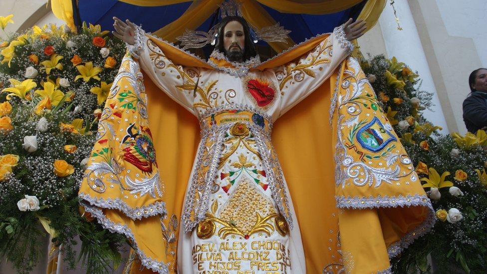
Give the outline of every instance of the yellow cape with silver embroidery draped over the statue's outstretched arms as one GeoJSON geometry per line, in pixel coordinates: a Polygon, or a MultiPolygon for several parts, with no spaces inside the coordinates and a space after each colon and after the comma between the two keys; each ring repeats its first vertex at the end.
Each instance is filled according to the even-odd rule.
{"type": "MultiPolygon", "coordinates": [[[[308,40],[262,63],[256,69],[263,70],[285,64],[308,52],[326,37],[327,35],[321,35],[308,40]]],[[[150,38],[175,64],[212,69],[206,62],[185,54],[172,45],[150,38]]],[[[113,106],[121,102],[117,99],[121,92],[137,88],[137,83],[123,74],[130,67],[130,62],[133,63],[130,60],[130,56],[124,59],[118,75],[120,77],[117,76],[114,81],[114,88],[102,117],[102,120],[108,122],[112,118],[115,118],[113,121],[122,121],[119,124],[113,122],[115,134],[119,128],[122,131],[127,127],[127,123],[123,122],[125,117],[130,122],[134,120],[134,114],[140,115],[138,110],[139,112],[122,111],[118,118],[113,116],[116,110],[113,106]]],[[[326,82],[280,117],[273,127],[272,140],[299,222],[308,273],[321,273],[324,269],[335,273],[342,267],[349,273],[377,273],[388,270],[389,258],[425,234],[435,220],[431,203],[392,128],[389,135],[384,135],[388,139],[381,144],[381,150],[371,151],[374,147],[364,149],[367,145],[363,144],[361,134],[367,137],[367,133],[360,129],[365,127],[364,129],[370,128],[370,131],[377,125],[382,128],[388,128],[389,125],[385,114],[377,107],[377,98],[365,79],[353,58],[344,60],[326,82]],[[359,98],[346,101],[351,88],[357,85],[362,85],[367,97],[363,100],[359,98]],[[343,124],[353,121],[362,127],[348,127],[343,124]],[[342,141],[342,146],[337,145],[339,141],[342,141]],[[389,153],[384,154],[384,151],[389,153]],[[380,166],[386,161],[386,157],[389,157],[386,159],[388,165],[391,162],[396,167],[395,177],[392,179],[387,177],[386,172],[382,177],[381,172],[379,175],[376,172],[386,170],[386,166],[380,166]],[[358,167],[355,174],[354,164],[358,167]],[[367,167],[372,167],[375,173],[364,172],[363,169],[367,167]],[[347,174],[348,177],[345,176],[347,174]],[[374,177],[376,175],[379,177],[374,177]],[[330,235],[336,235],[337,232],[339,239],[330,239],[330,235]]],[[[120,198],[130,189],[120,190],[115,186],[116,191],[113,191],[113,188],[108,187],[110,182],[105,177],[98,178],[99,182],[107,185],[106,190],[100,192],[93,190],[93,183],[90,184],[92,178],[87,175],[80,188],[80,197],[87,212],[98,218],[100,223],[111,231],[125,233],[129,238],[140,260],[134,260],[127,265],[127,271],[140,272],[142,264],[162,273],[167,267],[172,273],[177,270],[176,248],[180,233],[178,225],[200,129],[198,120],[159,90],[147,75],[144,75],[143,83],[149,119],[147,123],[139,117],[137,121],[140,122],[137,123],[142,128],[150,128],[152,133],[157,155],[157,167],[154,166],[153,172],[158,168],[164,194],[156,199],[145,196],[143,201],[137,202],[126,196],[126,200],[135,203],[131,204],[133,208],[163,202],[164,204],[158,204],[165,205],[165,210],[160,211],[164,213],[162,223],[161,215],[151,216],[150,212],[146,212],[139,220],[133,216],[127,217],[126,210],[108,206],[106,201],[120,198]],[[127,234],[127,231],[131,234],[127,234]]],[[[141,94],[144,94],[143,90],[141,94]]],[[[109,136],[109,130],[105,129],[103,133],[108,136],[107,139],[115,139],[115,136],[109,136]]],[[[100,144],[98,140],[93,148],[94,153],[107,147],[106,141],[100,144]]],[[[120,154],[120,141],[110,142],[110,151],[120,154]]],[[[99,159],[100,157],[91,158],[90,165],[100,161],[99,159]]],[[[118,161],[120,162],[123,161],[118,161]]],[[[130,164],[124,163],[121,169],[130,167],[130,164]]]]}

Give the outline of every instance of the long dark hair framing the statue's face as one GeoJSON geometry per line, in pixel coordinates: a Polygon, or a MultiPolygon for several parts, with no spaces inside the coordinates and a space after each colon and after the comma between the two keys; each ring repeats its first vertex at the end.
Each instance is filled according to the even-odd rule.
{"type": "Polygon", "coordinates": [[[250,27],[248,26],[247,21],[245,21],[245,19],[243,19],[243,17],[241,16],[227,16],[222,19],[222,21],[220,22],[220,26],[218,27],[218,36],[217,36],[215,48],[218,49],[220,52],[224,53],[225,55],[227,54],[223,42],[223,38],[225,36],[225,33],[223,33],[223,31],[225,30],[225,26],[231,21],[238,21],[243,26],[243,34],[245,36],[245,40],[244,40],[245,48],[243,50],[243,61],[246,61],[256,56],[257,51],[255,50],[255,46],[252,42],[252,37],[250,37],[250,27]]]}

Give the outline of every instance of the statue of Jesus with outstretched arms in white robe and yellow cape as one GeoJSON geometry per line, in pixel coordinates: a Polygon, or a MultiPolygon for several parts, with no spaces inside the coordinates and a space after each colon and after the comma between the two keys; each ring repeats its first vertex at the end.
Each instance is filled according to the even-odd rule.
{"type": "MultiPolygon", "coordinates": [[[[128,20],[114,20],[113,34],[128,44],[128,54],[100,119],[79,196],[98,222],[127,236],[142,267],[183,274],[387,273],[389,257],[407,246],[403,241],[431,226],[431,204],[411,161],[349,57],[364,21],[350,19],[261,62],[240,16],[220,22],[208,61],[128,20]],[[177,186],[186,190],[184,202],[165,193],[177,171],[160,172],[163,159],[172,156],[157,144],[182,141],[158,123],[164,113],[155,112],[153,98],[161,95],[151,95],[157,93],[148,91],[147,78],[199,120],[189,182],[177,186]],[[328,133],[317,136],[314,146],[326,147],[322,169],[330,177],[308,178],[307,186],[299,184],[308,192],[290,192],[294,182],[288,185],[277,159],[273,124],[323,86],[333,129],[328,111],[310,123],[327,124],[328,133]],[[380,142],[364,142],[367,132],[380,142]],[[313,192],[321,192],[329,206],[300,208],[317,202],[313,192]],[[181,211],[171,215],[168,206],[181,211]],[[376,210],[397,206],[401,210],[376,210]],[[318,218],[320,212],[329,216],[318,218]],[[308,234],[312,218],[326,230],[308,234]]],[[[308,145],[298,140],[286,149],[308,145]]],[[[308,161],[311,168],[315,159],[308,161]]]]}

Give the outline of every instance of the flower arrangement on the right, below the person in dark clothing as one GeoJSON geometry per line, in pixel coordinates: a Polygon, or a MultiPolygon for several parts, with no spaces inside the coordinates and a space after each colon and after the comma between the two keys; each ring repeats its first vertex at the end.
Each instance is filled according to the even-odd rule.
{"type": "Polygon", "coordinates": [[[395,273],[484,273],[487,269],[487,135],[442,135],[421,110],[432,108],[419,76],[396,58],[361,63],[387,118],[416,165],[438,222],[393,261],[395,273]],[[392,98],[392,99],[391,99],[392,98]],[[427,257],[431,260],[428,261],[427,257]]]}

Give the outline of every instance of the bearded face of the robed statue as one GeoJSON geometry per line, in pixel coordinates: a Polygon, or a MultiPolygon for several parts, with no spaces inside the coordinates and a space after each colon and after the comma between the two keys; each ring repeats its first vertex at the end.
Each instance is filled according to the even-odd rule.
{"type": "Polygon", "coordinates": [[[242,61],[245,50],[245,34],[239,21],[230,21],[223,30],[223,45],[231,61],[242,61]]]}

